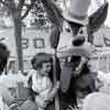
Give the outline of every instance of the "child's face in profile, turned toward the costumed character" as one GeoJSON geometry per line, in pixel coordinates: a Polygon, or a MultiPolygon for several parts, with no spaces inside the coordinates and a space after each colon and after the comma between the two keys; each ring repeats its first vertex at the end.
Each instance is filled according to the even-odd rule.
{"type": "Polygon", "coordinates": [[[42,68],[41,68],[41,74],[48,76],[48,73],[51,72],[51,69],[52,69],[52,63],[43,63],[42,68]]]}

